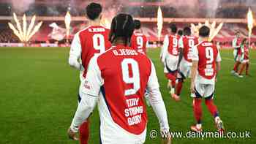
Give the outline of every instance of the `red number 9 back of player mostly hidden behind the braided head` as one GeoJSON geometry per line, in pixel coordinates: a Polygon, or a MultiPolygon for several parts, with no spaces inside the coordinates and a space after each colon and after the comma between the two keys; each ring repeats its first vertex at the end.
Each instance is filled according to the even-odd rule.
{"type": "Polygon", "coordinates": [[[147,37],[141,32],[134,32],[131,37],[130,45],[139,52],[146,54],[147,37]]]}

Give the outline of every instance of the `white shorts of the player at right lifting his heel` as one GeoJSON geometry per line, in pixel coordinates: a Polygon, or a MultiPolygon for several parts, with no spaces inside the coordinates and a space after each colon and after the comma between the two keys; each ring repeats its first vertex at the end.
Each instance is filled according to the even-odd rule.
{"type": "Polygon", "coordinates": [[[192,97],[212,99],[214,97],[215,86],[212,84],[195,83],[195,94],[192,97]]]}

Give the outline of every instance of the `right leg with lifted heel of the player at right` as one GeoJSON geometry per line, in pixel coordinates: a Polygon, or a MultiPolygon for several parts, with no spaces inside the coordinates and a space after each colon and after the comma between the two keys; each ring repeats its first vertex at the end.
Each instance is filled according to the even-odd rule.
{"type": "Polygon", "coordinates": [[[218,131],[223,132],[224,131],[223,122],[219,118],[219,111],[217,109],[217,106],[214,105],[213,96],[214,96],[214,85],[206,85],[206,88],[205,88],[206,106],[208,108],[208,111],[214,117],[214,121],[215,121],[218,131]]]}

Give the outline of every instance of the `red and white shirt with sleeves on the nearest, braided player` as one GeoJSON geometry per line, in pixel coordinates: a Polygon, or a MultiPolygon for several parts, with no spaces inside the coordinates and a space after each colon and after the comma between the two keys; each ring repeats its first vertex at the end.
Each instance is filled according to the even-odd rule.
{"type": "MultiPolygon", "coordinates": [[[[91,59],[82,91],[99,96],[102,143],[145,142],[146,88],[154,91],[154,94],[150,92],[154,102],[162,102],[154,64],[134,48],[116,45],[91,59]]],[[[162,129],[169,129],[165,108],[157,110],[159,118],[164,114],[160,122],[162,129]]]]}

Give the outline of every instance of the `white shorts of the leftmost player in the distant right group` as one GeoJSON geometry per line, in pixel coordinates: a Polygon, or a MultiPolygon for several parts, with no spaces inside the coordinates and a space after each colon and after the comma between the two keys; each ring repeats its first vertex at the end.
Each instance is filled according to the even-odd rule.
{"type": "Polygon", "coordinates": [[[178,69],[178,56],[170,55],[170,53],[167,53],[167,56],[165,58],[165,73],[173,73],[176,72],[178,69]]]}

